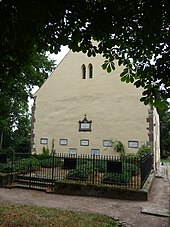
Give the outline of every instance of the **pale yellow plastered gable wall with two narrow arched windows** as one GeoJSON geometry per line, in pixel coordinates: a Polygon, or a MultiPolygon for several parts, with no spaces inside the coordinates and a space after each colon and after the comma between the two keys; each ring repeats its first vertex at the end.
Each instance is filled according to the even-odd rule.
{"type": "Polygon", "coordinates": [[[120,140],[127,152],[128,141],[139,141],[139,146],[148,141],[148,107],[139,101],[141,89],[120,81],[122,67],[108,74],[102,70],[104,59],[97,55],[87,57],[70,51],[35,94],[36,111],[34,123],[34,150],[42,152],[40,138],[48,138],[51,148],[54,139],[57,152],[91,154],[91,149],[100,149],[103,155],[116,155],[113,148],[103,147],[103,140],[120,140]],[[93,78],[82,79],[83,64],[93,65],[93,78]],[[79,132],[79,120],[84,115],[92,120],[91,132],[79,132]],[[68,145],[59,145],[60,139],[68,139],[68,145]],[[81,139],[88,139],[89,146],[80,146],[81,139]]]}

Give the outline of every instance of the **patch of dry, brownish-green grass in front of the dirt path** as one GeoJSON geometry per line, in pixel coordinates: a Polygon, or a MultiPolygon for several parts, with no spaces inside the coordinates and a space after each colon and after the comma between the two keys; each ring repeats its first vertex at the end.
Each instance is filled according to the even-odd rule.
{"type": "Polygon", "coordinates": [[[1,227],[98,227],[121,226],[111,217],[37,206],[0,205],[1,227]]]}

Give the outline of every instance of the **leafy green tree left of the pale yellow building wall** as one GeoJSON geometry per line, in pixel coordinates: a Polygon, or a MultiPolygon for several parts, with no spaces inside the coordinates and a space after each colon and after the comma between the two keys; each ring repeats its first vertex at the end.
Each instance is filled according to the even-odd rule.
{"type": "Polygon", "coordinates": [[[41,86],[54,68],[54,61],[49,60],[45,52],[38,53],[35,47],[30,62],[25,66],[21,67],[19,62],[15,65],[15,61],[10,69],[9,60],[6,70],[0,75],[0,149],[8,146],[19,149],[17,146],[22,147],[22,144],[28,147],[30,125],[24,124],[24,121],[30,121],[28,97],[31,96],[32,88],[41,86]],[[21,130],[21,127],[24,128],[21,130]]]}

